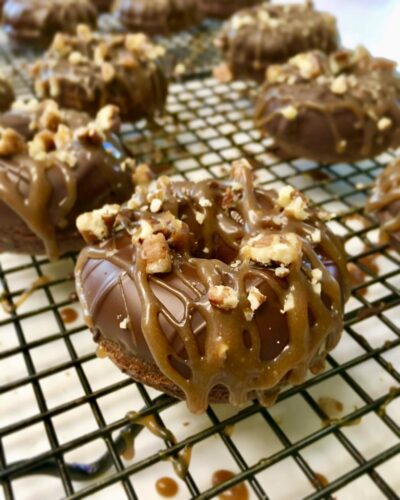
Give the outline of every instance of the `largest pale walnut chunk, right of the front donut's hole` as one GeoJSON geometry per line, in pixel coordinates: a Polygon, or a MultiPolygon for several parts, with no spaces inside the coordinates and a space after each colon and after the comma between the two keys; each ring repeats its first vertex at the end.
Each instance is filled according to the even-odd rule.
{"type": "Polygon", "coordinates": [[[262,265],[278,262],[287,266],[301,258],[302,243],[295,233],[261,234],[243,245],[241,255],[262,265]]]}

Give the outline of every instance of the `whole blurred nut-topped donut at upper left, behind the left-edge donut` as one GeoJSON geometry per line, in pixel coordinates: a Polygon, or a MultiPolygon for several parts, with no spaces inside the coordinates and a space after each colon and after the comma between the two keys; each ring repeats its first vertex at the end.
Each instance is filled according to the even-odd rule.
{"type": "Polygon", "coordinates": [[[114,104],[126,120],[152,119],[163,112],[168,93],[164,52],[141,33],[103,35],[82,25],[76,36],[57,34],[32,66],[36,94],[90,115],[114,104]]]}

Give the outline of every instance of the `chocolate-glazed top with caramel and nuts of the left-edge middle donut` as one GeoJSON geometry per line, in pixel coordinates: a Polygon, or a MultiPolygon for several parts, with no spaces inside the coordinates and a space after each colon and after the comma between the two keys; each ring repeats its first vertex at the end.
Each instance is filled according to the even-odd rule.
{"type": "Polygon", "coordinates": [[[18,127],[0,128],[0,201],[43,241],[54,259],[57,229],[73,224],[78,213],[95,207],[110,192],[118,200],[132,192],[130,175],[120,167],[124,150],[112,134],[118,129],[118,109],[103,108],[93,122],[85,114],[59,110],[53,101],[19,103],[14,113],[21,118],[21,133],[18,127]],[[31,130],[33,135],[23,135],[31,130]],[[92,169],[107,179],[106,193],[93,187],[90,197],[81,197],[80,183],[92,169]]]}

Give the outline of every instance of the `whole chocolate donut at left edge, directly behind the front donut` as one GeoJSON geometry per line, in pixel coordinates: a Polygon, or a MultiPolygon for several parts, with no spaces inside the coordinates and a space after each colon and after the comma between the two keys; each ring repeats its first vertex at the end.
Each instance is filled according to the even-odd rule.
{"type": "Polygon", "coordinates": [[[15,128],[0,128],[0,251],[56,259],[82,248],[79,214],[129,198],[131,160],[113,133],[117,108],[91,122],[52,101],[26,107],[3,115],[15,128]]]}

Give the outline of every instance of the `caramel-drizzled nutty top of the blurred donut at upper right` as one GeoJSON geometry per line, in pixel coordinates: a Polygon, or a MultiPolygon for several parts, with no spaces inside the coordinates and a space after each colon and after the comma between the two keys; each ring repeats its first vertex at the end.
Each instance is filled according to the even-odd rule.
{"type": "MultiPolygon", "coordinates": [[[[331,124],[336,152],[343,153],[347,143],[333,116],[350,111],[355,127],[364,131],[361,155],[368,156],[377,135],[386,137],[400,126],[400,80],[395,67],[391,61],[372,57],[363,47],[329,56],[319,51],[298,54],[284,65],[268,68],[263,91],[268,93],[269,102],[279,94],[283,105],[273,106],[266,114],[267,100],[261,98],[257,125],[266,125],[277,115],[295,121],[301,112],[322,113],[331,124]]],[[[400,141],[400,132],[392,141],[400,141]]]]}

